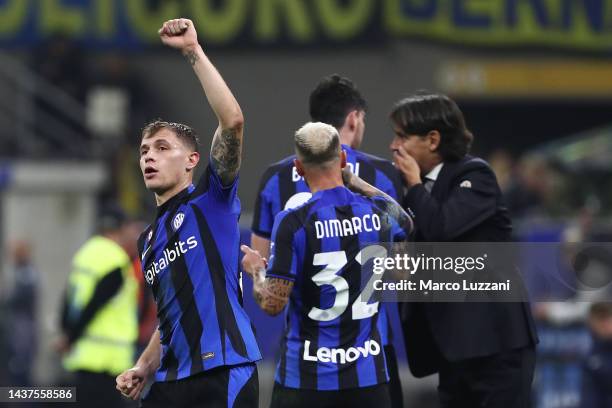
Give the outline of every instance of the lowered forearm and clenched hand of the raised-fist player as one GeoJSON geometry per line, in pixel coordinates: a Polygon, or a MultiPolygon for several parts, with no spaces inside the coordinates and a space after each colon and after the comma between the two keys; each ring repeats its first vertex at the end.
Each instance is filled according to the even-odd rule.
{"type": "Polygon", "coordinates": [[[160,335],[159,330],[155,330],[147,348],[142,352],[136,365],[117,376],[117,390],[133,400],[139,399],[147,378],[153,375],[159,367],[160,356],[160,335]]]}

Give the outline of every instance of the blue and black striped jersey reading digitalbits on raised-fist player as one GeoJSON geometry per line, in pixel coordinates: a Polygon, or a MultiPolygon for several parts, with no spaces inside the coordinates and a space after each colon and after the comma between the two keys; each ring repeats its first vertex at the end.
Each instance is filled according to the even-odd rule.
{"type": "Polygon", "coordinates": [[[157,303],[161,365],[156,381],[261,359],[239,284],[238,179],[223,186],[209,164],[157,209],[138,240],[157,303]]]}

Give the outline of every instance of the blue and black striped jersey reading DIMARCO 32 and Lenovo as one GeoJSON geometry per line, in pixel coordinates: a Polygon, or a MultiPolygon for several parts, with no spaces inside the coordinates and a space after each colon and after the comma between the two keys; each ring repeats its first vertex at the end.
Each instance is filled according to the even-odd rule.
{"type": "Polygon", "coordinates": [[[363,248],[406,238],[409,222],[392,217],[392,205],[336,187],[276,217],[267,276],[294,281],[279,384],[339,390],[388,381],[379,303],[360,295],[370,279],[363,248]]]}

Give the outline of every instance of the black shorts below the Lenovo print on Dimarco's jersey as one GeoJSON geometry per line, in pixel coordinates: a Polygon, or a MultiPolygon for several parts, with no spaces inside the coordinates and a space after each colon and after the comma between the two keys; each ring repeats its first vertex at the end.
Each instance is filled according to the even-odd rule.
{"type": "Polygon", "coordinates": [[[270,408],[389,408],[388,384],[338,391],[301,390],[274,383],[270,408]]]}

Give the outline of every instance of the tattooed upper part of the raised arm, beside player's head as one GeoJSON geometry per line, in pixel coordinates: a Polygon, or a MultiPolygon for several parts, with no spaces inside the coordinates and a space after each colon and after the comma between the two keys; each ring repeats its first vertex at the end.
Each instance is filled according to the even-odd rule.
{"type": "Polygon", "coordinates": [[[242,141],[238,129],[218,129],[213,137],[210,157],[225,185],[232,184],[240,169],[242,141]]]}

